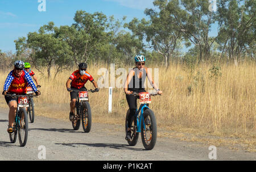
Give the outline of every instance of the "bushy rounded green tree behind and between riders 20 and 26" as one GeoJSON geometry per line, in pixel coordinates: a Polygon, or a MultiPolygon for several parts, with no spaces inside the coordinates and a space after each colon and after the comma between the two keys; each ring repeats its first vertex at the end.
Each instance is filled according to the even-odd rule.
{"type": "Polygon", "coordinates": [[[56,67],[58,72],[71,66],[71,49],[61,40],[56,31],[59,28],[53,22],[40,27],[38,32],[29,32],[26,46],[32,49],[31,58],[34,64],[47,68],[48,78],[51,78],[51,68],[56,67]]]}

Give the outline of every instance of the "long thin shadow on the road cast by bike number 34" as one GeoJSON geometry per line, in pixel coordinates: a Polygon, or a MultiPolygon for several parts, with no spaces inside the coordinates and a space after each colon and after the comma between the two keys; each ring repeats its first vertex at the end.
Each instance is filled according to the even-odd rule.
{"type": "Polygon", "coordinates": [[[126,149],[126,150],[140,150],[144,151],[145,149],[141,148],[134,148],[133,146],[126,145],[126,144],[110,144],[110,143],[93,143],[93,144],[88,144],[88,143],[70,143],[70,144],[65,144],[65,143],[56,143],[56,145],[64,145],[64,146],[72,146],[72,147],[77,147],[76,145],[85,145],[85,146],[90,146],[90,147],[96,147],[96,148],[113,148],[113,149],[126,149]]]}

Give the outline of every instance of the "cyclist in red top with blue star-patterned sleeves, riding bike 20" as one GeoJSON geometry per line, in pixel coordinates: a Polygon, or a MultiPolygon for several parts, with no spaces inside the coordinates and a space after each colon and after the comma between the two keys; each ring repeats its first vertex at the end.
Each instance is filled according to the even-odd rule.
{"type": "Polygon", "coordinates": [[[40,95],[40,91],[36,89],[34,82],[30,74],[28,74],[24,68],[24,62],[17,60],[14,62],[14,70],[12,70],[5,81],[5,85],[3,86],[3,95],[5,95],[6,103],[9,106],[9,127],[7,132],[13,132],[14,118],[15,113],[18,107],[18,98],[11,97],[7,94],[16,94],[22,95],[26,93],[26,87],[28,84],[31,85],[33,91],[36,95],[40,95]]]}

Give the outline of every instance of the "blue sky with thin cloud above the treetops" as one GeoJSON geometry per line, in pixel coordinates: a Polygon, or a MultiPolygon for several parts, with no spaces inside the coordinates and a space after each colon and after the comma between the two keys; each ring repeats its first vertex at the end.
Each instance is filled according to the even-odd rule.
{"type": "Polygon", "coordinates": [[[144,9],[153,8],[154,0],[45,0],[46,11],[38,6],[43,0],[0,0],[0,49],[2,52],[15,52],[14,40],[27,36],[28,32],[38,31],[40,26],[54,22],[56,26],[71,25],[77,10],[102,12],[115,19],[127,16],[146,18],[144,9]]]}

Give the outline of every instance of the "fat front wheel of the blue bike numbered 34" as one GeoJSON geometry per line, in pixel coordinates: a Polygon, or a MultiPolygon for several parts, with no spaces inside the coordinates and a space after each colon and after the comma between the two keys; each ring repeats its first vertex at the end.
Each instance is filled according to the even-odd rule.
{"type": "Polygon", "coordinates": [[[146,150],[154,148],[157,136],[157,126],[154,112],[147,109],[143,113],[145,129],[143,127],[143,121],[141,124],[141,139],[143,146],[146,150]]]}

